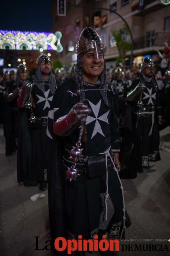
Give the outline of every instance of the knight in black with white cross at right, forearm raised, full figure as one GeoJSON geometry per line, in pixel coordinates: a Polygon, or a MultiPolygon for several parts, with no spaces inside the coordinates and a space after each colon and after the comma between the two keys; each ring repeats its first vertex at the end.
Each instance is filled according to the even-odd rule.
{"type": "MultiPolygon", "coordinates": [[[[141,64],[139,79],[131,84],[127,101],[131,104],[133,130],[143,139],[141,167],[149,168],[149,161],[160,160],[159,125],[162,123],[158,86],[154,65],[149,58],[141,64]]],[[[143,172],[141,168],[139,172],[143,172]]]]}

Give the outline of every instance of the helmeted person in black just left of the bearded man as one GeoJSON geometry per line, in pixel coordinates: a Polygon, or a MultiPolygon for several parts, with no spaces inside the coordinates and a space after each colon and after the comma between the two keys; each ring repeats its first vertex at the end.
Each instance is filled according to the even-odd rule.
{"type": "Polygon", "coordinates": [[[11,155],[17,150],[17,136],[19,127],[19,109],[17,98],[23,82],[28,77],[27,67],[20,64],[15,71],[11,71],[10,82],[7,90],[7,103],[5,108],[5,150],[6,155],[11,155]]]}

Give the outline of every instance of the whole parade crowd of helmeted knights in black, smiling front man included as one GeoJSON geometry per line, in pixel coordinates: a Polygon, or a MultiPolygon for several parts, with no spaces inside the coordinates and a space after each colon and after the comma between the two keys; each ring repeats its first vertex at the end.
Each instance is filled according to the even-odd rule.
{"type": "MultiPolygon", "coordinates": [[[[154,61],[145,57],[140,65],[110,66],[107,70],[103,49],[98,34],[86,28],[78,41],[75,67],[57,68],[53,74],[50,58],[41,54],[36,74],[29,78],[23,64],[17,67],[17,73],[0,72],[0,123],[4,128],[6,156],[17,152],[19,184],[23,182],[27,187],[39,184],[44,191],[48,180],[52,237],[65,236],[64,209],[69,237],[82,234],[88,238],[89,232],[91,237],[96,232],[99,237],[108,232],[110,239],[124,237],[130,218],[118,174],[122,141],[119,128],[126,126],[143,140],[138,172],[149,168],[150,161],[161,160],[159,130],[170,124],[168,46],[163,54],[158,52],[154,61]],[[94,35],[92,40],[89,31],[94,35]],[[83,50],[82,37],[88,40],[88,50],[83,50]],[[86,170],[85,163],[80,163],[79,157],[76,165],[69,160],[70,152],[74,153],[71,159],[77,153],[81,157],[80,135],[87,141],[84,154],[89,169],[84,176],[77,173],[76,165],[81,173],[86,170]],[[103,159],[107,162],[106,173],[104,168],[101,172],[98,169],[100,174],[92,169],[94,156],[100,166],[103,159]],[[64,174],[59,170],[61,159],[67,174],[65,185],[64,174]],[[77,183],[72,185],[69,179],[77,183]],[[91,207],[89,212],[87,205],[91,207]]],[[[101,252],[101,255],[106,254],[101,252]]]]}

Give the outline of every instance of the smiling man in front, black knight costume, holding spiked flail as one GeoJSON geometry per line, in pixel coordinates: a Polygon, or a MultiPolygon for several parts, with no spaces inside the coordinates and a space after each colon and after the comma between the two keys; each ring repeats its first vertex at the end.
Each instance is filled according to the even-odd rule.
{"type": "MultiPolygon", "coordinates": [[[[106,80],[104,45],[96,31],[86,27],[76,49],[74,77],[57,88],[48,113],[52,245],[57,237],[93,239],[98,234],[100,239],[106,232],[108,238],[121,238],[130,225],[118,174],[118,94],[106,80]],[[74,168],[70,154],[75,145],[83,147],[84,158],[81,161],[80,154],[74,168]]],[[[55,250],[55,255],[67,252],[55,250]]]]}

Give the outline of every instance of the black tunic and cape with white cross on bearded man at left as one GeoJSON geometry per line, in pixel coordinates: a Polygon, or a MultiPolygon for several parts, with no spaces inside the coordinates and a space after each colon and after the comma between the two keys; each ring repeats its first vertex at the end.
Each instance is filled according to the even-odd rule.
{"type": "Polygon", "coordinates": [[[31,109],[20,109],[19,140],[17,154],[17,181],[31,183],[47,181],[47,116],[50,109],[53,93],[50,90],[48,80],[44,80],[44,91],[33,80],[31,95],[35,108],[33,115],[39,118],[38,123],[30,124],[31,109]],[[27,147],[25,142],[27,141],[27,147]]]}

